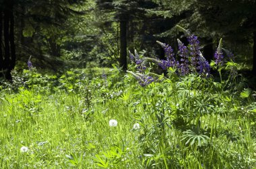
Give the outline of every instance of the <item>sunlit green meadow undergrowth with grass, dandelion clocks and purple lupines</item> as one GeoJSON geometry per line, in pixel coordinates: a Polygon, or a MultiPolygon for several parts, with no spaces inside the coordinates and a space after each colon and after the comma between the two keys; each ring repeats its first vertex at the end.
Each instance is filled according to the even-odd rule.
{"type": "Polygon", "coordinates": [[[161,42],[167,60],[130,53],[128,74],[40,74],[29,61],[1,85],[0,167],[255,168],[255,91],[222,62],[221,41],[208,64],[189,38],[179,61],[161,42]]]}

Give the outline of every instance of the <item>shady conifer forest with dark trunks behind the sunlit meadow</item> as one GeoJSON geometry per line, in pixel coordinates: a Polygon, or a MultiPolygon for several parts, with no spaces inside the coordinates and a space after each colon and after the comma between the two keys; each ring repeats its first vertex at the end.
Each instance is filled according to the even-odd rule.
{"type": "Polygon", "coordinates": [[[210,62],[223,38],[238,68],[256,72],[256,5],[245,1],[178,0],[1,0],[0,78],[26,68],[63,72],[69,68],[127,70],[128,50],[164,59],[156,41],[177,50],[181,25],[199,37],[210,62]],[[231,53],[232,52],[232,53],[231,53]]]}

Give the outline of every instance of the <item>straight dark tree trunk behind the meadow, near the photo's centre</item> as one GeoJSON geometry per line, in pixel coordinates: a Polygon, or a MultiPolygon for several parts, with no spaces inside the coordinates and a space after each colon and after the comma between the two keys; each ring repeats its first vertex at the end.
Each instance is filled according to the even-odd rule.
{"type": "Polygon", "coordinates": [[[120,21],[120,66],[127,70],[127,21],[120,21]]]}

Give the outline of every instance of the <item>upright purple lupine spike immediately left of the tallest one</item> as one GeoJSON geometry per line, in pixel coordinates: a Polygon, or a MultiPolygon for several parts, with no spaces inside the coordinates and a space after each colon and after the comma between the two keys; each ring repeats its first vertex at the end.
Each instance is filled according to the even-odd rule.
{"type": "Polygon", "coordinates": [[[178,39],[178,45],[179,45],[178,54],[181,57],[181,64],[180,64],[181,74],[182,75],[189,74],[189,54],[188,54],[187,46],[185,46],[179,39],[178,39]]]}

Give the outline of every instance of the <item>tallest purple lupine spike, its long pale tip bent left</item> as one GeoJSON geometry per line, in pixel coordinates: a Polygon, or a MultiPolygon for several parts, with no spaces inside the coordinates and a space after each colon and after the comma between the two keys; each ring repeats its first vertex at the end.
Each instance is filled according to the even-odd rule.
{"type": "Polygon", "coordinates": [[[194,34],[187,36],[189,41],[189,54],[191,55],[191,64],[194,68],[197,68],[197,62],[199,61],[199,54],[201,46],[199,46],[199,40],[194,34]]]}

